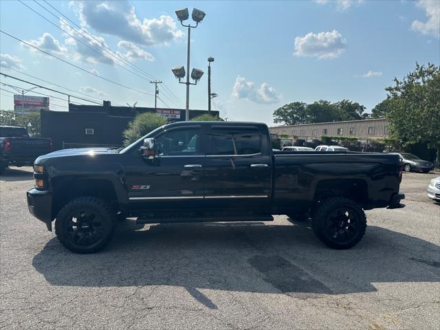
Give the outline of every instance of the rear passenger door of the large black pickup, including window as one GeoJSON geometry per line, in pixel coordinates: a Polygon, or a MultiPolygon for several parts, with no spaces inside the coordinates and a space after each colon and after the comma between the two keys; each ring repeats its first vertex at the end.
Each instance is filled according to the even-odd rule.
{"type": "Polygon", "coordinates": [[[206,128],[205,203],[217,208],[265,208],[271,156],[258,126],[206,128]]]}

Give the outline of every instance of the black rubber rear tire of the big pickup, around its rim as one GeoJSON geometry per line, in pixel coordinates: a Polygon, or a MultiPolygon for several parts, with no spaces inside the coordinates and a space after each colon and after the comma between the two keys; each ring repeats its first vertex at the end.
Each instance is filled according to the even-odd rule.
{"type": "MultiPolygon", "coordinates": [[[[353,219],[351,219],[352,223],[348,223],[347,225],[353,226],[353,219]]],[[[333,221],[333,223],[334,222],[335,221],[333,221]]],[[[361,206],[355,201],[344,197],[331,197],[318,203],[316,212],[314,212],[314,217],[311,221],[311,227],[313,228],[318,239],[320,239],[320,241],[325,243],[327,246],[333,249],[344,250],[352,248],[354,245],[360,242],[366,230],[366,217],[364,210],[362,210],[361,206]],[[331,217],[334,212],[344,209],[347,209],[351,212],[351,217],[355,217],[355,230],[347,230],[347,232],[350,232],[350,234],[353,236],[351,236],[351,238],[347,241],[338,242],[329,233],[329,226],[326,224],[328,224],[328,221],[331,221],[330,219],[336,219],[331,217]]],[[[345,230],[345,228],[341,228],[341,230],[345,230]]]]}

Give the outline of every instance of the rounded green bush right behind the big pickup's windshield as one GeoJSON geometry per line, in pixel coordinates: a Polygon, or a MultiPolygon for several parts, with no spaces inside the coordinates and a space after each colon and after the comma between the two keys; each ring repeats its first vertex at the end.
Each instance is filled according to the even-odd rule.
{"type": "Polygon", "coordinates": [[[122,133],[124,135],[124,146],[132,144],[142,136],[157,129],[157,127],[166,124],[166,121],[166,118],[156,113],[146,112],[136,115],[135,119],[129,122],[129,127],[122,133]]]}

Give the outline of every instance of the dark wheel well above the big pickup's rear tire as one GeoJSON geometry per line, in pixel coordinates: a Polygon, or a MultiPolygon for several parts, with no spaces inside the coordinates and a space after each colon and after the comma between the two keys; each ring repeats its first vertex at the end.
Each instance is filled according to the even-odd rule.
{"type": "Polygon", "coordinates": [[[318,182],[314,201],[329,197],[346,197],[357,203],[368,203],[369,195],[366,182],[362,179],[330,179],[318,182]]]}

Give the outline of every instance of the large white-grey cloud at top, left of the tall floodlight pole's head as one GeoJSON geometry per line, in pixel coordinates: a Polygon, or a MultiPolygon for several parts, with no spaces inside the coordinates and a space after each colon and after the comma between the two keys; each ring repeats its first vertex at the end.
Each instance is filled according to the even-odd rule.
{"type": "Polygon", "coordinates": [[[74,1],[73,7],[83,25],[137,45],[168,45],[184,35],[177,30],[175,20],[166,15],[141,21],[126,0],[74,1]]]}

